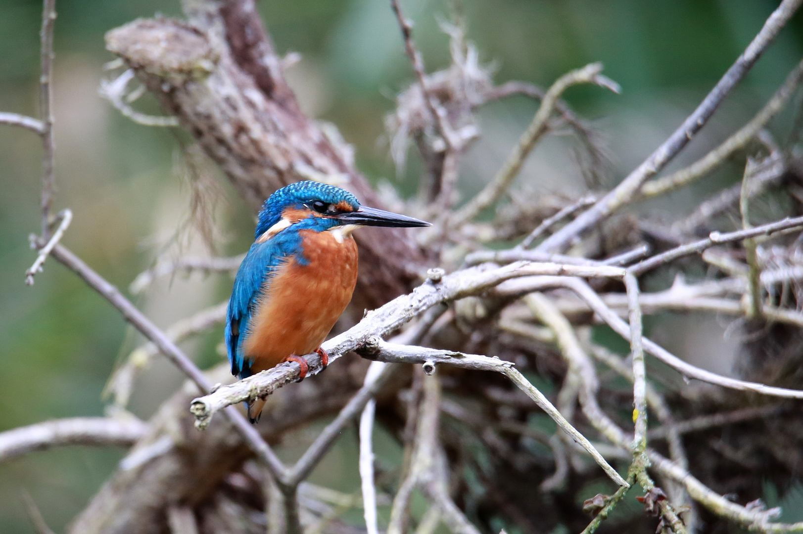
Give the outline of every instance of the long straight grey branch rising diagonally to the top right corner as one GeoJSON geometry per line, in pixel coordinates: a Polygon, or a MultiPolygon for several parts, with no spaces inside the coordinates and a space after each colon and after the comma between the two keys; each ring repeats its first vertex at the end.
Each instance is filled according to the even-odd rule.
{"type": "Polygon", "coordinates": [[[683,121],[672,135],[666,139],[658,149],[650,154],[650,157],[638,165],[622,183],[616,186],[609,194],[601,198],[597,204],[589,208],[569,222],[566,226],[557,230],[554,234],[544,239],[543,243],[537,247],[539,251],[556,252],[569,245],[573,238],[589,230],[618,210],[626,203],[630,202],[642,185],[661,171],[678,153],[691,141],[692,137],[699,132],[700,128],[708,122],[714,114],[719,104],[728,96],[731,89],[739,83],[740,79],[750,71],[753,64],[764,53],[764,50],[775,40],[781,28],[789,22],[789,18],[795,13],[803,0],[783,0],[781,5],[769,16],[764,26],[756,37],[748,45],[745,51],[736,59],[736,62],[728,68],[723,77],[715,85],[711,92],[705,97],[703,102],[697,106],[694,112],[683,121]]]}

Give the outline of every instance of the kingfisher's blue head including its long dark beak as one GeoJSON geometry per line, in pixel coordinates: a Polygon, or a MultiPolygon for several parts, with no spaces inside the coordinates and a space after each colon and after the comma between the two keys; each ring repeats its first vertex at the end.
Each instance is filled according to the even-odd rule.
{"type": "Polygon", "coordinates": [[[361,206],[349,191],[320,181],[297,181],[275,190],[259,212],[255,239],[279,223],[316,231],[347,225],[430,226],[417,218],[361,206]]]}

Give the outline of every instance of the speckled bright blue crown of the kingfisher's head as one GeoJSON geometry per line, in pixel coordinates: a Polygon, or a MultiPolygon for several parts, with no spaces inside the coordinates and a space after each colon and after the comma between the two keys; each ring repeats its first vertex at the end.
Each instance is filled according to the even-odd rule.
{"type": "Polygon", "coordinates": [[[300,208],[308,202],[320,200],[327,204],[347,202],[353,210],[360,207],[357,197],[336,185],[322,184],[320,181],[296,181],[275,190],[262,205],[254,238],[259,238],[268,228],[279,222],[282,212],[290,207],[300,208]]]}

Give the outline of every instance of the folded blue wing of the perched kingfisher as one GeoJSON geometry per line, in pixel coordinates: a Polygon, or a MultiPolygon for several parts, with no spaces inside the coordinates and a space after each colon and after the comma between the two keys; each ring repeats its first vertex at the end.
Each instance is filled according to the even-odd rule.
{"type": "Polygon", "coordinates": [[[240,264],[226,314],[226,349],[231,374],[240,379],[251,376],[251,362],[243,353],[243,342],[251,315],[256,312],[259,296],[287,257],[300,254],[300,244],[297,232],[283,230],[265,243],[251,245],[240,264]]]}

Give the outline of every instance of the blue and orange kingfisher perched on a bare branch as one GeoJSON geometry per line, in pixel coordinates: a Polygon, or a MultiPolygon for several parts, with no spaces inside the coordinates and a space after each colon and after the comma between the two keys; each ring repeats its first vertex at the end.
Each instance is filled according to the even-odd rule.
{"type": "MultiPolygon", "coordinates": [[[[254,244],[234,278],[226,313],[231,374],[243,379],[283,361],[301,366],[320,347],[352,298],[357,284],[360,226],[414,227],[429,222],[361,206],[340,187],[298,181],[276,190],[259,212],[254,244]]],[[[264,399],[248,403],[259,421],[264,399]]]]}

